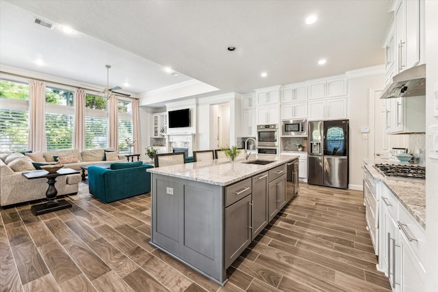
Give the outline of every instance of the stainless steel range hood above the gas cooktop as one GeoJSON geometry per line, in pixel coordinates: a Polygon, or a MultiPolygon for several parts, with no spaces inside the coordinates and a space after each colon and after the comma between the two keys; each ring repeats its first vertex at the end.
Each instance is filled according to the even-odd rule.
{"type": "Polygon", "coordinates": [[[420,96],[426,94],[426,64],[415,66],[398,73],[381,98],[420,96]]]}

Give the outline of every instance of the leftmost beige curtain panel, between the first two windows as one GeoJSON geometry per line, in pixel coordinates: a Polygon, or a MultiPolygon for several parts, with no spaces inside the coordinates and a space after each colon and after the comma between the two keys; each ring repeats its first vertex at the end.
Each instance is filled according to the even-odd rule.
{"type": "Polygon", "coordinates": [[[34,152],[47,150],[46,139],[46,83],[29,80],[29,137],[27,149],[34,152]]]}

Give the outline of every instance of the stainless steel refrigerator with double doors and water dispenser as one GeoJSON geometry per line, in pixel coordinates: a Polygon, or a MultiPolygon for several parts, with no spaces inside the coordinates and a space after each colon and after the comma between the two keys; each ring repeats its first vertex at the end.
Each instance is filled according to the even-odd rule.
{"type": "Polygon", "coordinates": [[[307,183],[348,188],[348,120],[307,122],[307,183]]]}

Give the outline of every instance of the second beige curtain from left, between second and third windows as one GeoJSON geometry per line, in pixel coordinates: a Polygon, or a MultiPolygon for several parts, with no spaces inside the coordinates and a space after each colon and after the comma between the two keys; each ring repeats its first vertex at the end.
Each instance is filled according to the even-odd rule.
{"type": "Polygon", "coordinates": [[[85,148],[85,90],[75,90],[75,133],[73,134],[73,148],[79,151],[85,148]]]}

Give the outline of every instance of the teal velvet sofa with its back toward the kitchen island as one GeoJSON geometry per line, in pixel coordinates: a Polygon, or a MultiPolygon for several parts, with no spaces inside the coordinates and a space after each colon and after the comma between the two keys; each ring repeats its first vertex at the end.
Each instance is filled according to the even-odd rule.
{"type": "Polygon", "coordinates": [[[124,198],[149,193],[152,165],[142,161],[112,163],[110,169],[99,166],[88,168],[90,194],[102,202],[114,202],[124,198]]]}

